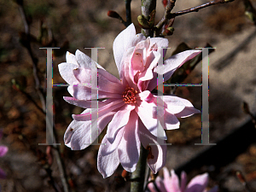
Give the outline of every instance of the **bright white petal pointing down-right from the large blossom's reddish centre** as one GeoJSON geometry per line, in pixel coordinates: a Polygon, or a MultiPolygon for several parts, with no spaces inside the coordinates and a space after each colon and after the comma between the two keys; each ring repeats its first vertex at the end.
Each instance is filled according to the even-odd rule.
{"type": "Polygon", "coordinates": [[[155,137],[159,137],[160,139],[167,139],[166,132],[163,130],[161,126],[158,126],[158,119],[153,118],[153,112],[156,105],[154,102],[142,102],[141,105],[136,108],[137,114],[143,122],[143,125],[153,134],[155,137]]]}

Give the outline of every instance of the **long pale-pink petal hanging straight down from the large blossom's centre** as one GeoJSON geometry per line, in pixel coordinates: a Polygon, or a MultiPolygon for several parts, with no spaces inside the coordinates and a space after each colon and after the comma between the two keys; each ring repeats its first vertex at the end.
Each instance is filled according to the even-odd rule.
{"type": "Polygon", "coordinates": [[[124,137],[119,143],[119,161],[127,172],[136,170],[140,156],[141,143],[138,135],[137,113],[132,111],[127,125],[125,125],[124,137]]]}

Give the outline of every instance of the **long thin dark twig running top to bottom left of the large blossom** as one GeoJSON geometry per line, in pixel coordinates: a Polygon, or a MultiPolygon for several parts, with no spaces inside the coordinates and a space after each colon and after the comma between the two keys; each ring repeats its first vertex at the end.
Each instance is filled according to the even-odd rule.
{"type": "MultiPolygon", "coordinates": [[[[30,27],[29,24],[26,20],[26,15],[25,15],[25,11],[23,8],[22,4],[19,4],[19,9],[20,9],[20,15],[21,18],[23,20],[24,26],[25,26],[25,32],[26,32],[26,44],[25,47],[28,50],[28,53],[30,55],[30,57],[32,58],[32,66],[33,66],[33,76],[36,82],[36,89],[38,92],[38,96],[40,97],[41,103],[42,103],[42,110],[45,112],[45,94],[44,91],[40,85],[40,80],[38,78],[38,59],[33,55],[32,53],[32,48],[31,48],[31,43],[30,43],[30,27]]],[[[55,133],[55,126],[53,127],[54,130],[54,141],[57,142],[57,137],[56,137],[56,133],[55,133]]],[[[64,169],[64,163],[63,160],[61,159],[61,153],[60,153],[60,148],[58,146],[54,146],[55,150],[54,150],[54,154],[55,154],[55,159],[59,168],[59,172],[60,172],[60,177],[61,177],[61,183],[63,186],[63,189],[65,192],[69,192],[69,185],[67,182],[67,174],[65,172],[64,169]]],[[[53,186],[55,188],[55,186],[53,186]]]]}

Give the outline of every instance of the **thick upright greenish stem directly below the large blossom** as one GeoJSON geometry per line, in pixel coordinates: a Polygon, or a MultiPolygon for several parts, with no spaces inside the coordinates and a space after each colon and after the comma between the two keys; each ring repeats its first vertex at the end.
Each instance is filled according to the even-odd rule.
{"type": "Polygon", "coordinates": [[[131,192],[144,191],[147,158],[148,150],[141,146],[140,158],[137,162],[136,170],[131,174],[131,192]]]}

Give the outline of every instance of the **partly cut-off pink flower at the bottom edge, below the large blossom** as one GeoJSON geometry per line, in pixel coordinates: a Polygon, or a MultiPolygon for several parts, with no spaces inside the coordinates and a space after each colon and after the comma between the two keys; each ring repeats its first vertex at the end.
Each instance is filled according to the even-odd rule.
{"type": "MultiPolygon", "coordinates": [[[[208,173],[198,175],[187,184],[187,175],[185,172],[181,174],[181,183],[179,184],[178,177],[175,172],[171,171],[171,176],[166,167],[163,168],[164,178],[156,177],[155,184],[160,192],[217,192],[218,186],[207,190],[208,173]]],[[[148,183],[150,192],[158,192],[154,187],[154,183],[148,183]]]]}

